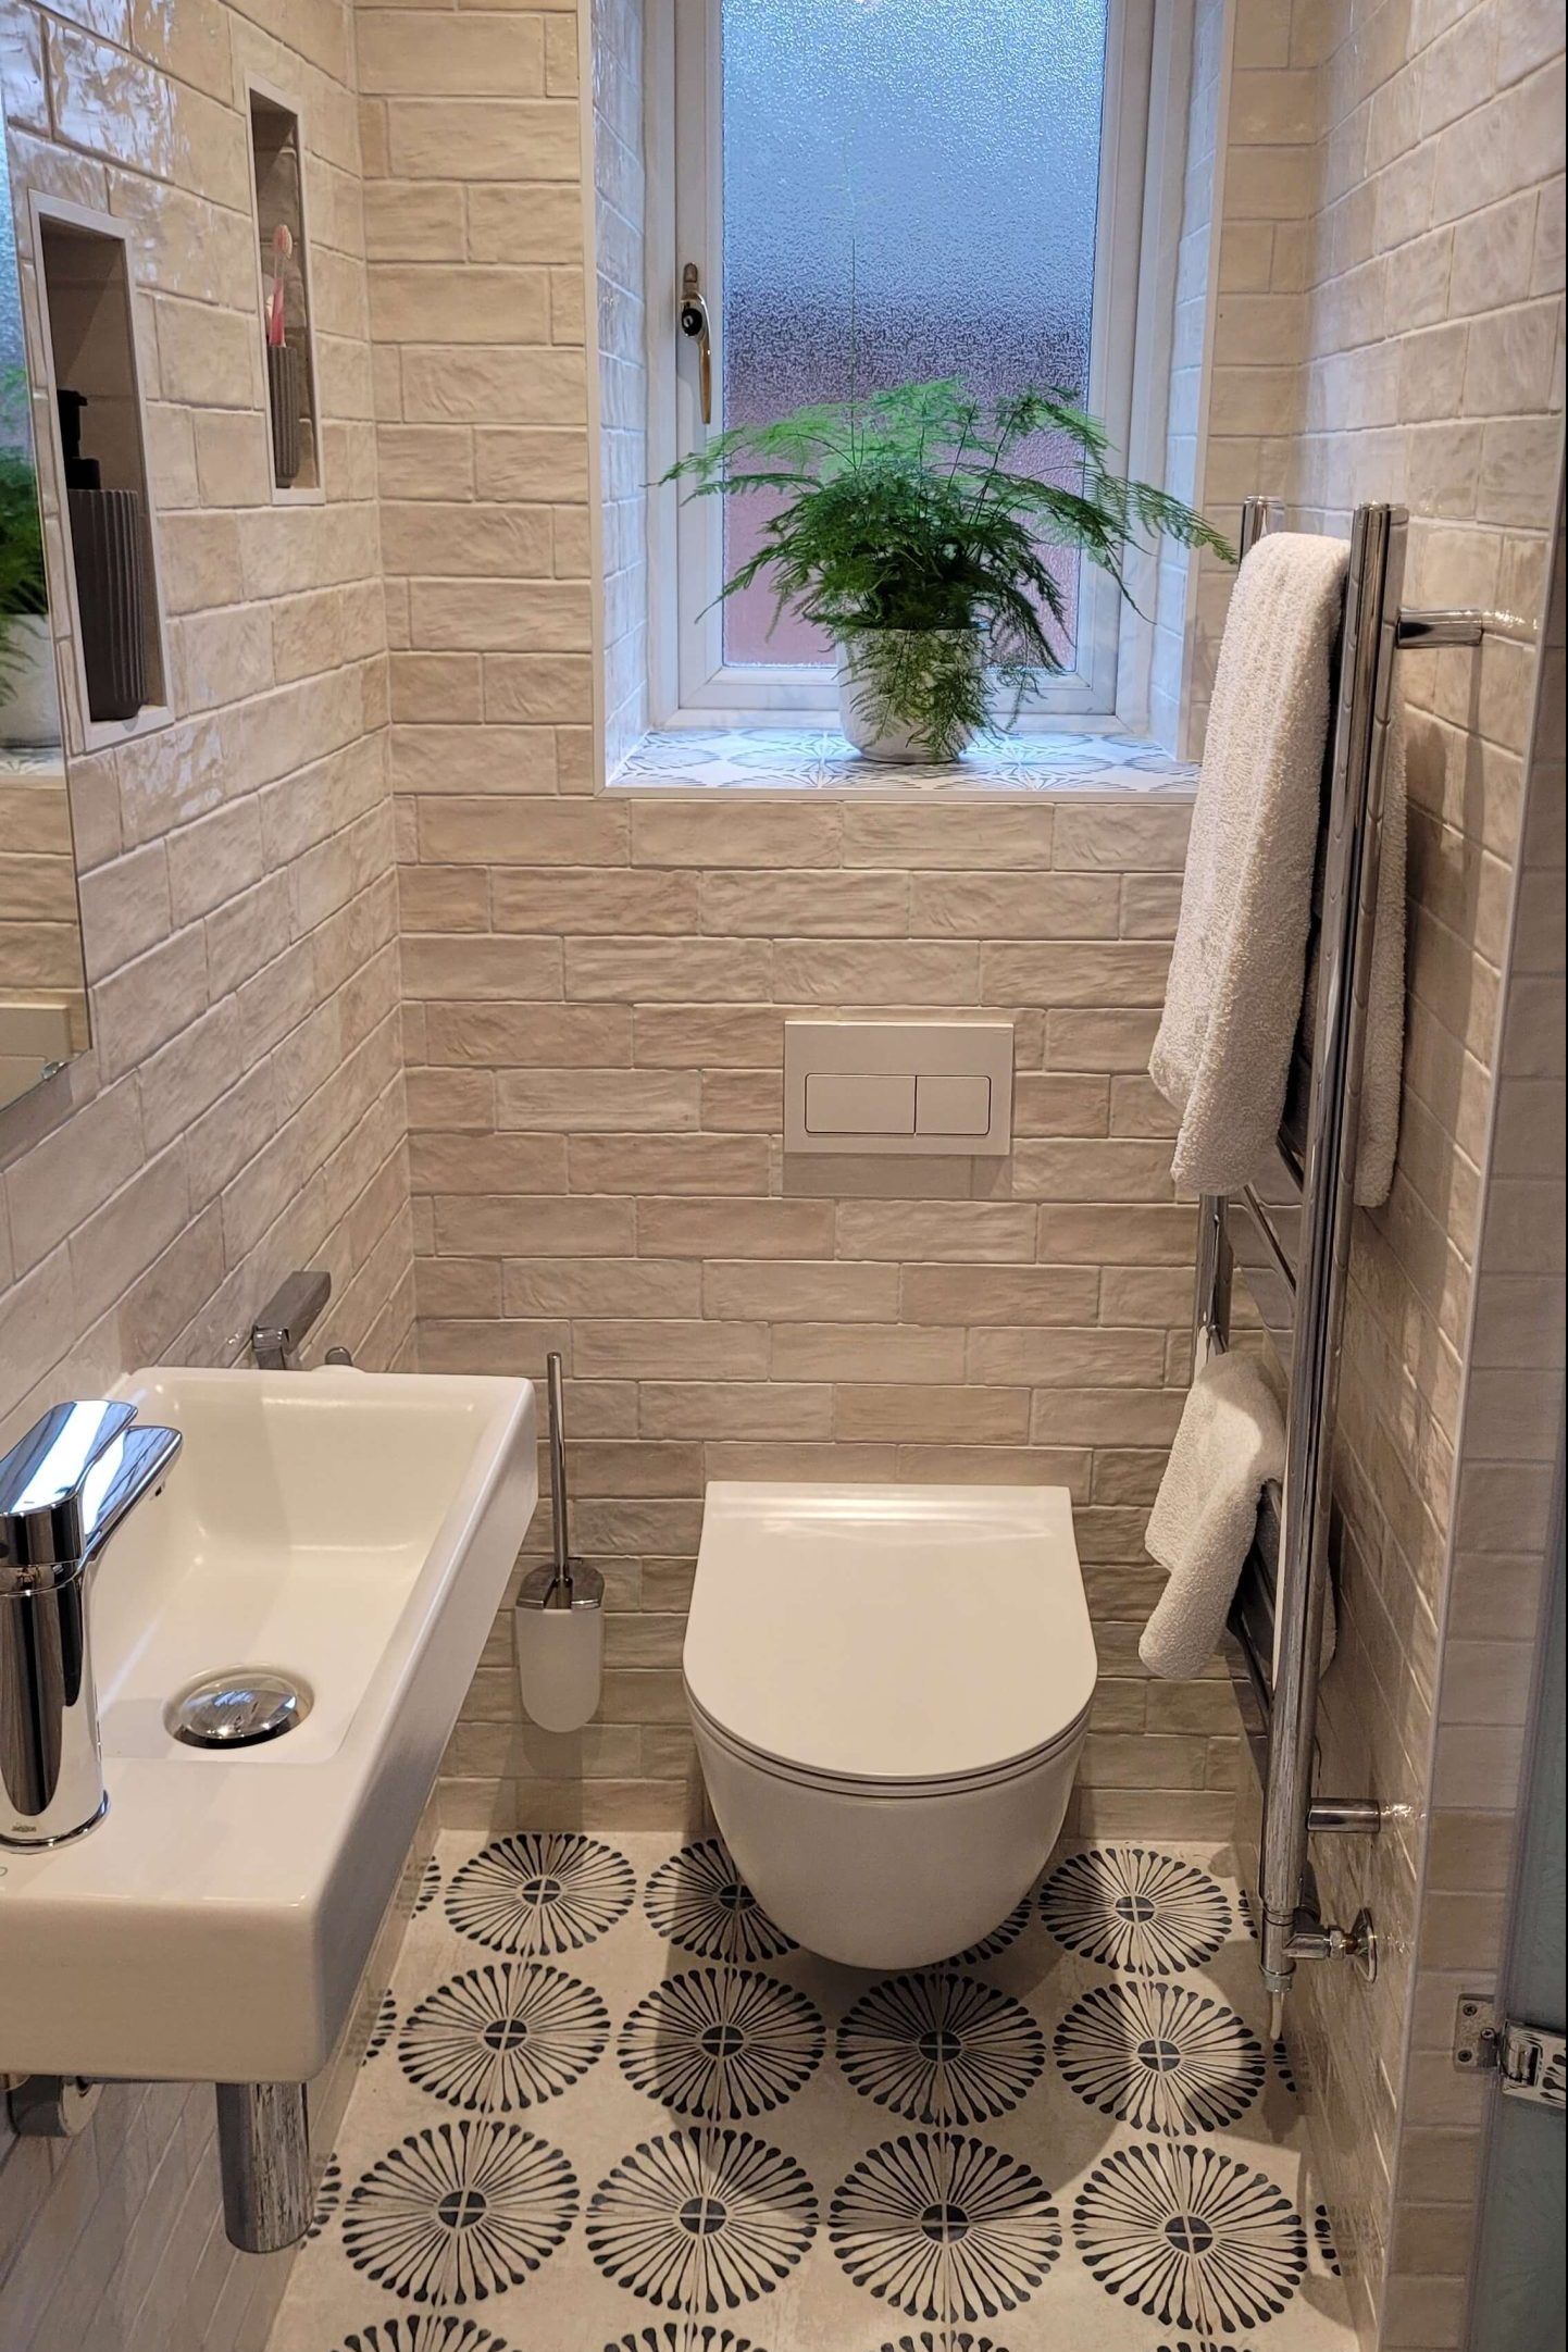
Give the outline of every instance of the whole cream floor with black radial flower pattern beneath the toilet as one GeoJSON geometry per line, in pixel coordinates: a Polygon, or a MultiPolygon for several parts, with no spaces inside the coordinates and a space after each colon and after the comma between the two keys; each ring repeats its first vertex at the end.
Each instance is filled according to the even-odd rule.
{"type": "Polygon", "coordinates": [[[870,1976],[717,1839],[442,1837],[270,2352],[1349,2352],[1227,1863],[870,1976]]]}

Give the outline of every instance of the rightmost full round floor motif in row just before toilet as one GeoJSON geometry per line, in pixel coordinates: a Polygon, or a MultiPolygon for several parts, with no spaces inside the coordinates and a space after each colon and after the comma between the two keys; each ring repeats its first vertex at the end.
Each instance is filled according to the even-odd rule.
{"type": "Polygon", "coordinates": [[[1133,2131],[1225,2131],[1262,2091],[1262,2044],[1234,2009],[1159,1978],[1095,1985],[1056,2027],[1063,2079],[1133,2131]]]}

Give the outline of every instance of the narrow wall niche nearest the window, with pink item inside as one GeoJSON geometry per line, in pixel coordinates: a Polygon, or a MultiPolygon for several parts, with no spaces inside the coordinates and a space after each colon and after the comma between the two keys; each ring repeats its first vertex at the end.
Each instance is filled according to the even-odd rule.
{"type": "Polygon", "coordinates": [[[247,99],[273,499],[310,503],[322,499],[322,435],[299,111],[266,82],[247,82],[247,99]]]}

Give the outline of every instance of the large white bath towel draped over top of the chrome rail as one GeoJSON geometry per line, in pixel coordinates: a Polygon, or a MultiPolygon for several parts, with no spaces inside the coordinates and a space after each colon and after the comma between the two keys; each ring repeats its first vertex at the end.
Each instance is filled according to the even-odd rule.
{"type": "MultiPolygon", "coordinates": [[[[1302,1018],[1331,661],[1345,604],[1338,539],[1272,532],[1225,621],[1192,811],[1182,908],[1150,1075],[1182,1115],[1175,1181],[1239,1192],[1279,1131],[1302,1018]]],[[[1403,1061],[1403,734],[1387,762],[1382,889],[1356,1200],[1387,1195],[1403,1061]]]]}

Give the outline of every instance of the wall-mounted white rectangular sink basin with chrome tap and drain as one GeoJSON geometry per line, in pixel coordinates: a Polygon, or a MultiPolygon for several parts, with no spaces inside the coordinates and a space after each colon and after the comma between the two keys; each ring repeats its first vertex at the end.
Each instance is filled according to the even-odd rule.
{"type": "Polygon", "coordinates": [[[92,1588],[108,1813],[0,1851],[0,2072],[306,2082],[348,2018],[538,1501],[527,1381],[139,1371],[183,1430],[92,1588]],[[197,1750],[169,1703],[273,1668],[310,1710],[197,1750]]]}

